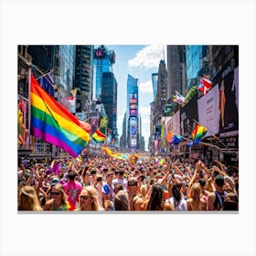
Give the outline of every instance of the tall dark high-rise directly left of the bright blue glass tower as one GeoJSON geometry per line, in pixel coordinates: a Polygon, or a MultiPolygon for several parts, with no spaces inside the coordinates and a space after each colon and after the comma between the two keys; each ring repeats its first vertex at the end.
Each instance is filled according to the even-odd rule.
{"type": "Polygon", "coordinates": [[[92,100],[93,46],[76,46],[75,58],[76,112],[81,112],[86,102],[92,100]]]}

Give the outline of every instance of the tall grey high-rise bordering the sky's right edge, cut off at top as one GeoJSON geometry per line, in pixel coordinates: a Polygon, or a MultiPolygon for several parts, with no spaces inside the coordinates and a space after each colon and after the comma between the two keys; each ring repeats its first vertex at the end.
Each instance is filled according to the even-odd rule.
{"type": "Polygon", "coordinates": [[[178,91],[186,94],[186,47],[167,46],[167,98],[171,103],[173,95],[178,91]]]}

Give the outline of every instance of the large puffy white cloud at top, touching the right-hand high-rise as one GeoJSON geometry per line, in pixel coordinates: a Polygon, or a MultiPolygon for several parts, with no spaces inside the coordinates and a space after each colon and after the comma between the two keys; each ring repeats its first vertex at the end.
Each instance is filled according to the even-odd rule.
{"type": "Polygon", "coordinates": [[[140,69],[151,69],[159,66],[163,59],[163,46],[147,46],[136,53],[136,57],[128,60],[128,66],[140,69]]]}

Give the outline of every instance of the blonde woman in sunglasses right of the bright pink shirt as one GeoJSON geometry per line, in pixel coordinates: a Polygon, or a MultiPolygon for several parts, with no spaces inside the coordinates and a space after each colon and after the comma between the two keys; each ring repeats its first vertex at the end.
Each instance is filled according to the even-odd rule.
{"type": "Polygon", "coordinates": [[[81,190],[79,207],[76,210],[103,210],[100,206],[98,191],[95,187],[86,186],[81,190]]]}

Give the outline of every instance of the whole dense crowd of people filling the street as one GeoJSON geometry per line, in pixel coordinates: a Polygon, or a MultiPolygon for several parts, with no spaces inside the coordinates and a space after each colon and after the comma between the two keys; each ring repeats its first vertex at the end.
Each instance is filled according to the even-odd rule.
{"type": "Polygon", "coordinates": [[[165,156],[22,161],[17,168],[17,209],[33,211],[239,210],[239,168],[219,161],[165,156]]]}

